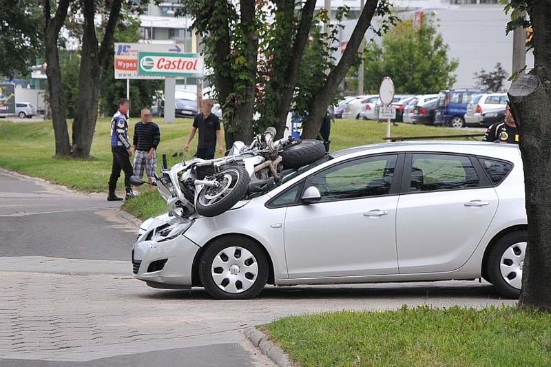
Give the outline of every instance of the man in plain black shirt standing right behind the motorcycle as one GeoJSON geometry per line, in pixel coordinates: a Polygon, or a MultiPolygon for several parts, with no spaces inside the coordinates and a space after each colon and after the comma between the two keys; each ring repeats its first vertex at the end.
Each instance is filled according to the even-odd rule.
{"type": "Polygon", "coordinates": [[[218,151],[224,153],[222,145],[222,135],[220,134],[220,120],[215,114],[211,114],[214,102],[211,99],[205,99],[201,102],[201,113],[194,119],[194,125],[191,127],[184,151],[189,150],[189,143],[193,140],[195,133],[199,130],[199,142],[197,145],[197,158],[213,159],[216,143],[218,142],[218,151]]]}

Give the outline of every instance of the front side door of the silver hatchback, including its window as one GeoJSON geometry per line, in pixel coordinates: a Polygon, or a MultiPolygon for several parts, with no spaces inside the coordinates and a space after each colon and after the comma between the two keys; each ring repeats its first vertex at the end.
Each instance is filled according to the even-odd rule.
{"type": "Polygon", "coordinates": [[[397,273],[395,216],[403,155],[339,162],[304,182],[321,199],[287,208],[290,278],[397,273]]]}

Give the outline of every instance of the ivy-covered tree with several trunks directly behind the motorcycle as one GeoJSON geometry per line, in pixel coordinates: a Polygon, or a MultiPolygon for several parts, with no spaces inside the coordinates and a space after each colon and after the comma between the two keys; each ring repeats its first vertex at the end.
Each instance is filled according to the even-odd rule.
{"type": "MultiPolygon", "coordinates": [[[[253,112],[260,114],[256,122],[258,129],[275,125],[278,134],[283,134],[291,104],[295,102],[296,105],[297,96],[302,93],[310,97],[304,113],[308,116],[304,123],[305,136],[315,136],[340,81],[357,59],[357,49],[371,26],[371,18],[375,12],[384,15],[390,10],[386,0],[378,7],[379,1],[368,1],[346,52],[335,65],[331,62],[335,33],[331,31],[324,37],[311,37],[314,18],[329,23],[329,17],[322,19],[319,14],[315,15],[313,0],[181,2],[183,12],[194,17],[194,28],[203,39],[205,63],[213,71],[211,78],[223,106],[227,145],[233,140],[251,140],[253,112]],[[309,59],[315,61],[311,70],[318,70],[322,65],[323,72],[316,74],[316,82],[320,83],[315,90],[300,90],[300,86],[315,84],[300,81],[301,70],[304,72],[301,66],[304,51],[315,49],[311,45],[312,39],[324,44],[318,50],[325,53],[317,59],[309,59]]],[[[326,10],[320,14],[323,12],[327,14],[326,10]]],[[[335,30],[336,26],[330,25],[329,28],[335,30]]],[[[319,28],[317,32],[319,35],[319,28]]],[[[306,74],[313,73],[302,73],[306,74]]]]}

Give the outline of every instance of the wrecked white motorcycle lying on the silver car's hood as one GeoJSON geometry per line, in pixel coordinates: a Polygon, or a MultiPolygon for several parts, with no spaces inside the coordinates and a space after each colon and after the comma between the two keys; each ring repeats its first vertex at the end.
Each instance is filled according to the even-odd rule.
{"type": "MultiPolygon", "coordinates": [[[[163,155],[162,176],[152,178],[152,185],[167,200],[169,215],[218,216],[247,196],[275,185],[285,171],[309,165],[325,154],[319,140],[274,140],[275,135],[275,128],[269,127],[250,145],[236,141],[222,158],[194,158],[170,169],[163,155]]],[[[130,183],[147,182],[132,176],[130,183]]]]}

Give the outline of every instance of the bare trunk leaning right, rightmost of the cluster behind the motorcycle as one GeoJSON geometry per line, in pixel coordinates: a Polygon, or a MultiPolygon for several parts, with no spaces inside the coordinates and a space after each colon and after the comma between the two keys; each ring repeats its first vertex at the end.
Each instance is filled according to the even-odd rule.
{"type": "Polygon", "coordinates": [[[344,54],[342,54],[339,63],[335,65],[327,76],[324,86],[313,96],[310,114],[302,124],[302,138],[313,139],[318,136],[325,112],[329,107],[329,103],[331,103],[331,98],[333,98],[333,95],[337,92],[339,83],[342,81],[342,78],[346,76],[346,72],[349,71],[355,60],[357,50],[360,48],[360,44],[364,39],[364,34],[371,25],[371,19],[373,19],[373,14],[375,14],[378,2],[378,0],[367,1],[362,9],[360,18],[357,20],[349,42],[346,44],[346,50],[344,50],[344,54]]]}

